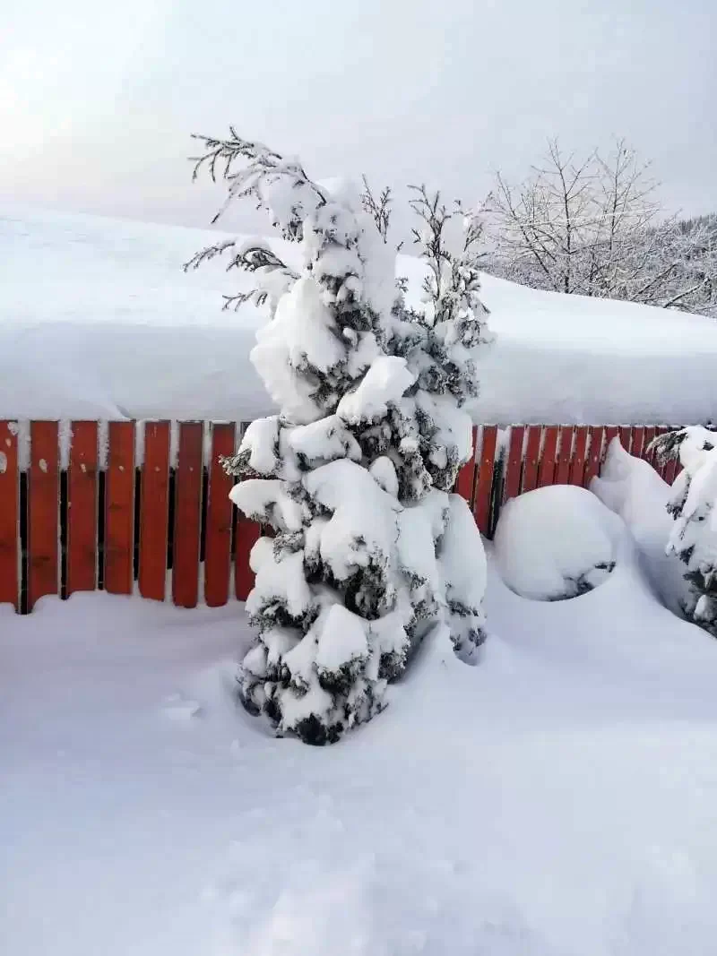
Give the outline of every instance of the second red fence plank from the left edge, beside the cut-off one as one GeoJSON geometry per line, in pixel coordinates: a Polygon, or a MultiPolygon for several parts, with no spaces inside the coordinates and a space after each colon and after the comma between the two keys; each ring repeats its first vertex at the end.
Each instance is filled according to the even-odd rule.
{"type": "Polygon", "coordinates": [[[57,423],[33,422],[28,494],[28,609],[58,593],[59,473],[57,423]]]}

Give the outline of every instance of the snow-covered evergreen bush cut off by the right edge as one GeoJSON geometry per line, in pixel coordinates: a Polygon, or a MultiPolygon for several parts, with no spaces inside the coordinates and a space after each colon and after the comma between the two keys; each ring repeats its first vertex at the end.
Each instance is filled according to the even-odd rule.
{"type": "Polygon", "coordinates": [[[684,614],[717,637],[717,432],[701,425],[667,432],[653,446],[683,470],[667,504],[675,519],[666,548],[686,565],[684,614]]]}

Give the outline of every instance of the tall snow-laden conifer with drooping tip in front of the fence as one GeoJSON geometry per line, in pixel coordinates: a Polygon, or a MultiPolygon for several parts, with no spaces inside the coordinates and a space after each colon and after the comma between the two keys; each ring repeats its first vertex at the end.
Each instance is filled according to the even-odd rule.
{"type": "Polygon", "coordinates": [[[448,494],[472,453],[477,274],[467,253],[442,253],[424,309],[409,311],[357,190],[319,185],[233,130],[202,139],[195,174],[220,166],[227,203],[253,198],[296,250],[289,265],[279,245],[223,242],[187,264],[231,250],[229,268],[256,284],[226,304],[270,316],[251,361],[280,412],[225,463],[243,479],[232,501],[274,532],[250,554],[258,639],[240,694],[279,732],[329,743],[384,706],[430,626],[447,620],[464,659],[483,637],[480,536],[448,494]]]}

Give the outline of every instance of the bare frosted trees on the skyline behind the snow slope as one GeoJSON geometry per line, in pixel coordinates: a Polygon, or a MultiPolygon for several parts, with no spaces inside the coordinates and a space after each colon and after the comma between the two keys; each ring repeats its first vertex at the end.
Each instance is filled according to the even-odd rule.
{"type": "Polygon", "coordinates": [[[714,230],[665,217],[656,189],[649,164],[623,140],[607,159],[596,151],[579,161],[552,141],[522,185],[498,174],[487,268],[536,289],[708,311],[714,230]]]}

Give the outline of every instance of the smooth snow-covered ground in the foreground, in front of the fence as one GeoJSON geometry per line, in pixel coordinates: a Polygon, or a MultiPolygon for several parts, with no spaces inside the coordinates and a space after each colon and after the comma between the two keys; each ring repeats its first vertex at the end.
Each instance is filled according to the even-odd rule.
{"type": "Polygon", "coordinates": [[[4,956],[702,956],[717,934],[717,642],[629,539],[429,642],[333,748],[235,709],[241,605],[0,608],[4,956]]]}

